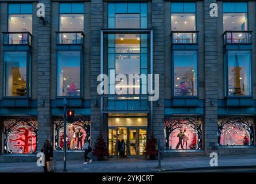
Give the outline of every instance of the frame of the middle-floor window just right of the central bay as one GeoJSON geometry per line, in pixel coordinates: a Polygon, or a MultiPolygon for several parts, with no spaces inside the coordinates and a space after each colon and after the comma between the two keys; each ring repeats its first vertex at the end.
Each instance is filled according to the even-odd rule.
{"type": "Polygon", "coordinates": [[[194,49],[191,49],[191,50],[182,50],[182,49],[175,49],[175,50],[172,50],[172,63],[171,63],[171,96],[172,98],[198,98],[199,97],[199,86],[198,86],[198,50],[194,50],[194,49]],[[197,54],[197,61],[196,61],[196,64],[195,66],[197,67],[197,87],[195,88],[197,90],[197,95],[174,95],[174,52],[176,51],[182,51],[182,52],[187,52],[187,51],[194,51],[196,54],[197,54]]]}

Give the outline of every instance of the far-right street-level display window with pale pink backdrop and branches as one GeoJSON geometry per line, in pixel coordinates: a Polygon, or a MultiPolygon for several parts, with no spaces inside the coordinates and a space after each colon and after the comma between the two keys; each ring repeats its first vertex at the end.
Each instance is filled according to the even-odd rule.
{"type": "Polygon", "coordinates": [[[254,122],[251,117],[223,117],[218,120],[219,145],[253,145],[254,122]]]}

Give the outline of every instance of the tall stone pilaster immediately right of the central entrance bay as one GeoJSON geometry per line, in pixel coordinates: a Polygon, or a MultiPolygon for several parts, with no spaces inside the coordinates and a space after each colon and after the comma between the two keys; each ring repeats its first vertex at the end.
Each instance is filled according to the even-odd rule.
{"type": "Polygon", "coordinates": [[[164,147],[164,0],[152,0],[153,74],[159,74],[159,102],[153,102],[152,132],[164,147]]]}

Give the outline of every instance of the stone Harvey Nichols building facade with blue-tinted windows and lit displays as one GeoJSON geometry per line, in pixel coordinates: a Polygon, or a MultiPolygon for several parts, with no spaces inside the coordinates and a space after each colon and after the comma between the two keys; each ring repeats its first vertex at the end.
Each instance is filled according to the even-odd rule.
{"type": "Polygon", "coordinates": [[[63,98],[76,114],[70,155],[100,133],[110,157],[122,139],[127,157],[143,156],[152,134],[164,156],[256,152],[255,15],[243,0],[1,0],[2,156],[33,155],[46,139],[61,155],[63,98]],[[139,94],[118,82],[97,93],[111,70],[159,74],[159,99],[142,79],[128,86],[139,94]]]}

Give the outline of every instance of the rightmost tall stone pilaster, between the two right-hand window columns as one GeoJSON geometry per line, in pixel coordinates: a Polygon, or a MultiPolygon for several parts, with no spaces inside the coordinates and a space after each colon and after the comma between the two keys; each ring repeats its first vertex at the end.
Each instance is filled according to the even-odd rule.
{"type": "Polygon", "coordinates": [[[204,148],[209,154],[217,146],[217,18],[210,17],[210,3],[204,1],[205,29],[205,126],[204,148]]]}

